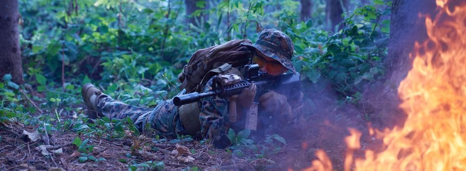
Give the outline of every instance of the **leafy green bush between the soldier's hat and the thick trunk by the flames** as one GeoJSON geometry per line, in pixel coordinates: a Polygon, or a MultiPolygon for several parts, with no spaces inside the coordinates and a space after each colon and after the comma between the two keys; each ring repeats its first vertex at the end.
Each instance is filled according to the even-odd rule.
{"type": "Polygon", "coordinates": [[[390,22],[382,18],[387,13],[389,8],[358,8],[334,34],[309,28],[309,21],[286,26],[291,27],[287,32],[293,36],[299,56],[295,60],[297,69],[312,83],[329,81],[342,99],[360,95],[362,85],[383,81],[382,60],[388,52],[390,22]],[[312,33],[308,36],[297,34],[309,30],[312,33]]]}

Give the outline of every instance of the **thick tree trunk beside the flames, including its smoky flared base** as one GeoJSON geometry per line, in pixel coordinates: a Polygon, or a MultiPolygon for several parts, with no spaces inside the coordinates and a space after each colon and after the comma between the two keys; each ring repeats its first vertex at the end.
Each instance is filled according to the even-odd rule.
{"type": "MultiPolygon", "coordinates": [[[[427,38],[425,20],[418,14],[434,14],[435,1],[426,0],[393,0],[390,24],[389,54],[384,59],[387,71],[387,84],[380,85],[374,93],[368,96],[371,101],[386,101],[379,105],[381,110],[378,128],[402,126],[406,114],[399,108],[401,103],[398,97],[398,86],[412,67],[409,54],[413,51],[416,41],[424,41],[427,38]],[[373,96],[373,97],[371,97],[373,96]],[[375,99],[375,100],[373,100],[375,99]]],[[[379,106],[374,106],[377,108],[379,106]]]]}

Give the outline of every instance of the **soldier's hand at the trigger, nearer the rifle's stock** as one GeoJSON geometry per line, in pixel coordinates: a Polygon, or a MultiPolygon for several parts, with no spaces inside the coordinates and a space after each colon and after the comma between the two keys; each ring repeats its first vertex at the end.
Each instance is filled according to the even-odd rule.
{"type": "Polygon", "coordinates": [[[259,104],[262,110],[272,115],[282,113],[288,107],[287,98],[273,90],[259,97],[259,104]]]}

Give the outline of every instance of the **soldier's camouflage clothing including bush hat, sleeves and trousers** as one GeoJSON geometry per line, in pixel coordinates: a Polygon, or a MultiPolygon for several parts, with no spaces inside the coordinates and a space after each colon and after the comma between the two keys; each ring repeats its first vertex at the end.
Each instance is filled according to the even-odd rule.
{"type": "MultiPolygon", "coordinates": [[[[283,32],[272,29],[264,30],[255,44],[242,44],[251,50],[259,50],[264,55],[277,60],[292,72],[296,72],[290,61],[294,46],[291,39],[283,32]]],[[[207,82],[204,92],[211,91],[211,89],[212,79],[207,82]]],[[[185,90],[180,94],[184,92],[185,90]]],[[[211,139],[215,147],[225,148],[231,144],[226,136],[229,128],[233,128],[235,132],[244,129],[245,117],[239,117],[239,121],[235,123],[229,122],[227,99],[218,96],[207,97],[198,102],[198,106],[200,109],[200,135],[202,138],[211,139]]],[[[302,108],[301,99],[296,102],[288,102],[285,108],[285,112],[279,114],[259,112],[260,119],[256,133],[265,134],[267,128],[294,129],[293,131],[302,128],[300,126],[303,123],[299,122],[304,121],[304,119],[298,115],[299,110],[302,108]]],[[[176,134],[188,134],[180,120],[178,108],[173,104],[172,100],[160,102],[157,107],[151,110],[127,105],[115,101],[111,97],[105,97],[99,100],[97,110],[109,118],[124,119],[129,116],[140,131],[146,131],[147,127],[150,127],[155,130],[156,134],[168,137],[174,137],[176,134]]],[[[261,111],[260,108],[259,111],[261,111]]]]}

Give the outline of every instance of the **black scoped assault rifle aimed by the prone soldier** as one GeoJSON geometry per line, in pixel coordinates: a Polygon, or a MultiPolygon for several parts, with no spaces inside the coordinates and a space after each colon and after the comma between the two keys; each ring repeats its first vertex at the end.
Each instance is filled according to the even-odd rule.
{"type": "Polygon", "coordinates": [[[257,102],[259,97],[274,90],[280,94],[288,96],[288,98],[299,98],[301,92],[301,79],[299,73],[283,74],[279,76],[271,76],[265,72],[259,71],[258,64],[248,64],[240,68],[245,79],[236,78],[235,75],[214,76],[212,91],[205,93],[193,92],[176,96],[173,98],[173,103],[176,106],[182,106],[199,101],[201,98],[216,96],[228,98],[235,94],[240,94],[243,89],[249,87],[251,83],[257,86],[254,102],[257,102]]]}

